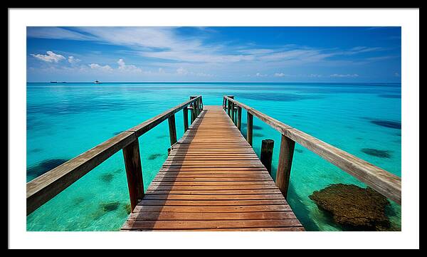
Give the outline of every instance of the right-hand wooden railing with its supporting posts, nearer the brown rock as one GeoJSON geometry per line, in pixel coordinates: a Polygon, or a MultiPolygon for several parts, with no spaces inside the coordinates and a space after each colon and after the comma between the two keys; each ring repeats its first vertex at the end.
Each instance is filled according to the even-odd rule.
{"type": "Polygon", "coordinates": [[[401,178],[397,177],[384,169],[374,166],[369,162],[359,159],[348,152],[333,147],[321,140],[318,140],[311,135],[300,130],[290,127],[283,122],[273,119],[268,115],[253,109],[252,107],[240,103],[233,99],[232,95],[223,97],[223,109],[226,110],[228,116],[231,117],[234,124],[241,129],[241,112],[242,108],[247,111],[247,137],[249,144],[253,144],[253,116],[278,130],[282,135],[280,142],[280,154],[278,161],[278,170],[276,173],[275,183],[280,191],[286,197],[288,194],[288,186],[290,180],[290,169],[292,166],[292,157],[295,148],[295,142],[306,147],[308,150],[315,152],[323,159],[331,162],[335,166],[342,169],[344,172],[364,182],[372,189],[380,194],[401,204],[401,178]]]}

